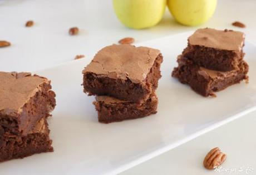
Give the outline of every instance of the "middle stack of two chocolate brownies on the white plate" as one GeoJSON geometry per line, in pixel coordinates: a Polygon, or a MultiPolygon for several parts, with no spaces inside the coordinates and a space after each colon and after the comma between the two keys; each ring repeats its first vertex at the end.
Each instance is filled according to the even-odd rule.
{"type": "Polygon", "coordinates": [[[129,44],[101,49],[82,71],[83,88],[96,95],[99,122],[137,119],[156,113],[155,90],[163,56],[157,49],[129,44]]]}

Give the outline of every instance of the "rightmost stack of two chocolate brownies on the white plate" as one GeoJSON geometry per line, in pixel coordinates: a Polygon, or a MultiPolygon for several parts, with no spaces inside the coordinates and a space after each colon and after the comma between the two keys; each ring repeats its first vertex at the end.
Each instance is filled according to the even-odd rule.
{"type": "Polygon", "coordinates": [[[216,91],[248,81],[244,39],[244,33],[233,30],[196,30],[178,56],[172,76],[203,96],[216,96],[216,91]]]}

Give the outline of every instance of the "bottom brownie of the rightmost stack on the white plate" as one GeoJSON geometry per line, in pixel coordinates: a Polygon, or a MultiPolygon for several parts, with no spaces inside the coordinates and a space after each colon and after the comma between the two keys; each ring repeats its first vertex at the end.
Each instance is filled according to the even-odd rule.
{"type": "Polygon", "coordinates": [[[249,66],[245,61],[240,62],[238,69],[225,72],[202,68],[181,55],[178,58],[178,64],[172,76],[178,78],[183,84],[189,84],[194,91],[203,96],[213,95],[215,91],[248,79],[249,66]]]}

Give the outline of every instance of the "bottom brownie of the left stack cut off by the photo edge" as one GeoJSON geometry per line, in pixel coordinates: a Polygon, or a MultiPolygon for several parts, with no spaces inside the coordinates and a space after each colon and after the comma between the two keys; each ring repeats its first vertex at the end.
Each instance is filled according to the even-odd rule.
{"type": "Polygon", "coordinates": [[[0,136],[0,162],[31,156],[35,153],[52,152],[49,132],[48,124],[45,118],[42,118],[27,136],[16,136],[11,133],[0,136]]]}

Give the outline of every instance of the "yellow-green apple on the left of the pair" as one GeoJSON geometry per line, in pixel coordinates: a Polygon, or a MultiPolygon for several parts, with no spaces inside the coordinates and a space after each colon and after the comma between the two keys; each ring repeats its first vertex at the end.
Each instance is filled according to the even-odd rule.
{"type": "Polygon", "coordinates": [[[160,22],[166,0],[113,0],[117,18],[127,27],[148,28],[160,22]]]}

